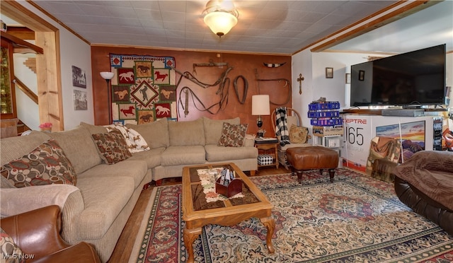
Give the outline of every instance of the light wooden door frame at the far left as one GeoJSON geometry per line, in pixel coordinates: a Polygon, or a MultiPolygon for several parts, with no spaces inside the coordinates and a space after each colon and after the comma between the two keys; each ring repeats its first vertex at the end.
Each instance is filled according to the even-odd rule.
{"type": "Polygon", "coordinates": [[[35,32],[40,123],[52,123],[52,131],[64,130],[59,29],[16,1],[1,1],[1,14],[35,32]]]}

